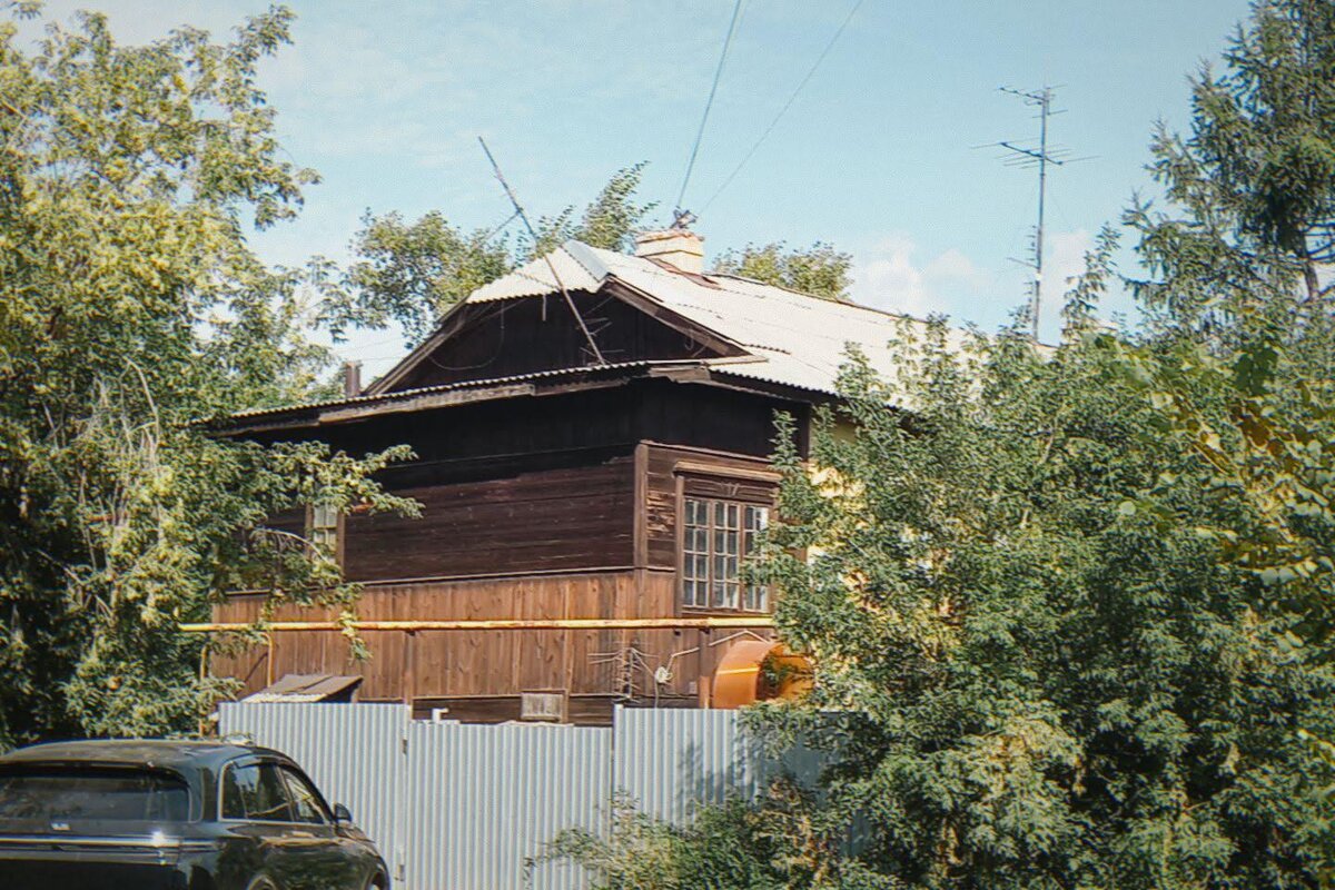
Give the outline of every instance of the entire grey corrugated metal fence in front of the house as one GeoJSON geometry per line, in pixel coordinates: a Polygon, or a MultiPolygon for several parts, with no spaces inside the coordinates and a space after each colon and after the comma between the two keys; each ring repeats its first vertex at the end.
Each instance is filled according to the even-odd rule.
{"type": "MultiPolygon", "coordinates": [[[[737,711],[617,709],[613,727],[413,721],[399,705],[223,705],[246,733],[300,762],[346,803],[403,890],[579,890],[578,869],[525,861],[562,829],[599,830],[614,793],[682,822],[749,797],[780,765],[737,711]]],[[[800,775],[814,758],[786,759],[800,775]]]]}

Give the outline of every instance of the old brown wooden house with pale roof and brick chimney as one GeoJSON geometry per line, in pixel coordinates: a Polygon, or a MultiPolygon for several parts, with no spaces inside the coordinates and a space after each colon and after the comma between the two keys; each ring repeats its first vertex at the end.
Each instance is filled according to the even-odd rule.
{"type": "MultiPolygon", "coordinates": [[[[383,483],[423,511],[275,518],[364,584],[370,660],[336,631],[292,630],[212,670],[247,691],[359,674],[362,701],[466,721],[708,703],[724,652],[772,632],[774,591],[738,570],[773,510],[776,412],[805,436],[848,344],[888,370],[905,319],[701,260],[681,231],[637,256],[569,242],[474,292],[364,392],[232,418],[220,435],[409,443],[383,483]]],[[[215,620],[252,622],[262,602],[234,594],[215,620]]]]}

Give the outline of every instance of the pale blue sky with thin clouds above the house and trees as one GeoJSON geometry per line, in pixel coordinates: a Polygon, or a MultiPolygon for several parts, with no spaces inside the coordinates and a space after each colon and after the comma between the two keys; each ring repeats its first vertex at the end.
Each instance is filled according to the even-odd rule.
{"type": "MultiPolygon", "coordinates": [[[[125,41],[190,23],[219,35],[263,1],[47,4],[47,20],[105,11],[125,41]]],[[[649,161],[666,220],[732,0],[295,1],[295,45],[266,63],[292,159],[316,168],[302,219],[263,256],[346,258],[363,211],[491,226],[509,205],[482,135],[535,215],[581,204],[649,161]]],[[[865,0],[816,76],[736,180],[704,208],[825,47],[853,0],[746,0],[685,204],[717,254],[748,242],[832,242],[856,259],[854,296],[984,327],[1023,299],[1036,179],[996,151],[1036,135],[1000,85],[1060,85],[1052,140],[1092,160],[1049,181],[1048,292],[1135,189],[1152,123],[1187,125],[1187,75],[1218,59],[1244,0],[865,0]]],[[[1125,310],[1123,295],[1111,310],[1125,310]]],[[[1056,299],[1044,332],[1057,331],[1056,299]]],[[[340,350],[386,370],[400,344],[364,332],[340,350]]]]}

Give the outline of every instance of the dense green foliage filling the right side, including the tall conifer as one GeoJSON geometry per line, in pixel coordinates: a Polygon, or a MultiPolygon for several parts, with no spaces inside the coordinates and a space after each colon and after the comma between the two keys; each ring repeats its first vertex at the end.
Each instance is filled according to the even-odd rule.
{"type": "Polygon", "coordinates": [[[780,436],[760,571],[841,735],[818,818],[904,887],[1312,887],[1330,874],[1331,5],[1259,3],[1160,128],[1127,215],[1139,336],[854,356],[810,462],[780,436]],[[1314,754],[1315,753],[1315,754],[1314,754]]]}

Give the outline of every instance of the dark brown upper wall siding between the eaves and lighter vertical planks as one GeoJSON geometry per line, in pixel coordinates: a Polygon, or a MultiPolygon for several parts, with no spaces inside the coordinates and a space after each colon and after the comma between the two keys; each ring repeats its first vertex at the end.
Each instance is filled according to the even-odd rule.
{"type": "MultiPolygon", "coordinates": [[[[674,568],[672,462],[718,451],[732,455],[718,456],[721,466],[764,467],[778,410],[801,406],[642,380],[591,392],[391,414],[318,432],[352,454],[398,443],[415,452],[386,470],[380,482],[422,502],[422,518],[350,516],[344,523],[344,564],[355,580],[631,564],[674,568]],[[654,451],[643,514],[637,516],[633,454],[643,440],[684,450],[654,451]],[[638,560],[637,523],[647,526],[647,555],[638,560]]],[[[300,518],[283,519],[302,530],[300,518]]]]}

